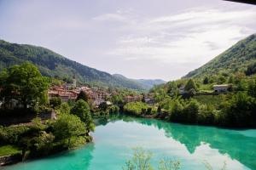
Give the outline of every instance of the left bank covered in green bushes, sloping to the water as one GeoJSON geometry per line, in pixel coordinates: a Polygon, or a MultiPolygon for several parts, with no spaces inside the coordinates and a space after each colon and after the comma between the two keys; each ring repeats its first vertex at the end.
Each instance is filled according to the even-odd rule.
{"type": "Polygon", "coordinates": [[[1,165],[73,150],[91,141],[84,123],[73,115],[52,122],[36,119],[29,124],[0,127],[1,165]]]}

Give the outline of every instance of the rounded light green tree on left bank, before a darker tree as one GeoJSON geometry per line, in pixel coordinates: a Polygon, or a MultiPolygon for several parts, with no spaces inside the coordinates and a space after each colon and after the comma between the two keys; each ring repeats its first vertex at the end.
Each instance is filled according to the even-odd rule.
{"type": "Polygon", "coordinates": [[[68,139],[68,146],[70,139],[73,136],[81,136],[86,134],[84,122],[78,116],[63,114],[53,124],[54,135],[57,140],[68,139]]]}

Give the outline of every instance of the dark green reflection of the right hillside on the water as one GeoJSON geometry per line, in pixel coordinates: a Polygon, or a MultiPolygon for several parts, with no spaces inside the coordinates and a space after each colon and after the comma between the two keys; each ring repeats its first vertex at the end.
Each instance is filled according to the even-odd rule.
{"type": "Polygon", "coordinates": [[[190,154],[195,152],[201,143],[210,144],[212,149],[217,149],[221,154],[227,154],[232,159],[240,161],[245,166],[256,168],[256,134],[255,130],[235,130],[218,127],[205,127],[183,125],[179,123],[164,122],[155,119],[125,116],[110,116],[99,121],[99,125],[108,122],[138,122],[147,126],[154,126],[165,131],[166,137],[184,144],[190,154]]]}

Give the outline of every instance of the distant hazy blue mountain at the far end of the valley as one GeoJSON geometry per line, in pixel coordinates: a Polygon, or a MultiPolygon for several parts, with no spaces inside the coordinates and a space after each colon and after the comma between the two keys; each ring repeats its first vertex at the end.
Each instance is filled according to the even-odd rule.
{"type": "Polygon", "coordinates": [[[146,89],[153,88],[154,85],[159,85],[162,83],[166,83],[165,81],[161,79],[131,79],[124,77],[123,75],[120,74],[113,74],[113,77],[118,77],[119,79],[122,79],[123,81],[132,81],[137,83],[138,86],[141,86],[146,89]]]}

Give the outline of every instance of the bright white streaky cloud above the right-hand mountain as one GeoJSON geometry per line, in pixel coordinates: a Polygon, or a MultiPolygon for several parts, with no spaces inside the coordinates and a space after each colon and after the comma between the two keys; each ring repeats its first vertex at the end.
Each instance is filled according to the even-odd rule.
{"type": "Polygon", "coordinates": [[[136,24],[120,27],[119,31],[129,29],[132,32],[119,37],[117,47],[107,54],[127,60],[202,65],[253,33],[253,29],[245,25],[255,18],[256,11],[251,9],[222,11],[208,8],[147,20],[140,18],[136,24]]]}

